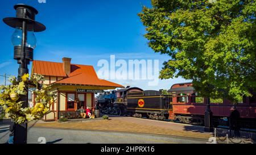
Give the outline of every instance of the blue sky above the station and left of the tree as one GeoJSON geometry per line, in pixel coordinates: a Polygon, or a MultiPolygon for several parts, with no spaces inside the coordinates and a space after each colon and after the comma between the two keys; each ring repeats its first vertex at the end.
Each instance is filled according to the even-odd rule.
{"type": "MultiPolygon", "coordinates": [[[[15,16],[13,6],[25,3],[38,9],[36,20],[46,25],[47,30],[36,33],[37,47],[34,60],[61,62],[62,57],[71,57],[73,64],[93,65],[96,72],[101,59],[110,60],[110,55],[118,59],[152,59],[162,63],[167,55],[154,53],[147,45],[146,33],[138,13],[142,6],[150,7],[150,0],[38,0],[1,1],[1,19],[15,16]]],[[[0,75],[16,76],[18,64],[13,60],[13,45],[10,37],[13,28],[0,22],[1,52],[0,75]]],[[[31,70],[31,65],[30,65],[31,70]]],[[[187,82],[182,78],[159,81],[158,86],[148,86],[146,80],[110,80],[122,85],[142,87],[142,89],[169,89],[177,82],[187,82]]],[[[0,77],[0,84],[3,84],[0,77]]]]}

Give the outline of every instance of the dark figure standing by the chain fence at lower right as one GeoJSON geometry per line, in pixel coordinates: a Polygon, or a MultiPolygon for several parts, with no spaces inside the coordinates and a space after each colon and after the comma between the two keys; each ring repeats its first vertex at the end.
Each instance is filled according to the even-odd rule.
{"type": "Polygon", "coordinates": [[[235,106],[231,109],[231,114],[229,116],[230,130],[234,130],[234,136],[240,137],[240,112],[235,106]]]}

